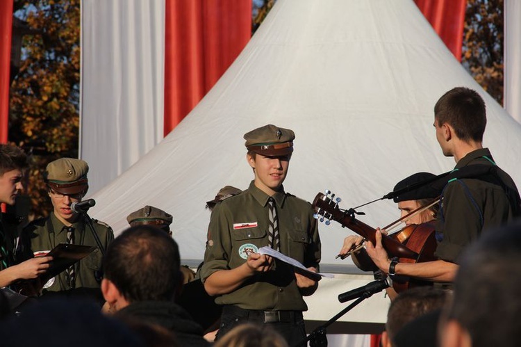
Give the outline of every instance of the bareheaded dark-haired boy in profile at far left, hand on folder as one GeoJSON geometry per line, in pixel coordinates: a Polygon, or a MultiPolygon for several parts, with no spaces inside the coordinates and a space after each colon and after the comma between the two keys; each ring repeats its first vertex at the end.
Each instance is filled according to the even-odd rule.
{"type": "MultiPolygon", "coordinates": [[[[27,168],[27,157],[13,145],[0,145],[0,203],[13,205],[22,186],[22,171],[27,168]]],[[[15,265],[15,228],[8,225],[0,213],[0,288],[17,280],[33,280],[49,268],[51,257],[28,259],[15,265]]]]}

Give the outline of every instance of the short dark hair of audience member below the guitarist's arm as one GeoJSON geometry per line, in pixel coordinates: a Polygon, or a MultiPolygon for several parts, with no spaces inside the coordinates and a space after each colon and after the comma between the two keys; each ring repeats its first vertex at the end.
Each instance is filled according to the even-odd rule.
{"type": "Polygon", "coordinates": [[[404,325],[436,309],[441,309],[447,300],[447,293],[437,287],[414,287],[399,293],[392,300],[387,312],[386,332],[393,341],[404,325]]]}

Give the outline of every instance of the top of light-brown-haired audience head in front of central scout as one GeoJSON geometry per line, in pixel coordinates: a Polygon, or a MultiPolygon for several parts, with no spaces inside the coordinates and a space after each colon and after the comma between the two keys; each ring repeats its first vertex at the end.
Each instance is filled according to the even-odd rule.
{"type": "Polygon", "coordinates": [[[236,326],[221,339],[215,347],[288,347],[286,340],[270,325],[244,323],[236,326]]]}

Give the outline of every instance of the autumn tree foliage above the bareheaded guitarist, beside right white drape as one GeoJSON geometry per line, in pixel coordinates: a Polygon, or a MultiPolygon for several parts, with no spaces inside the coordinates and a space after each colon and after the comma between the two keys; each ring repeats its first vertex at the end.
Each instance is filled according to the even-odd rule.
{"type": "Polygon", "coordinates": [[[467,0],[461,63],[503,104],[503,0],[467,0]]]}

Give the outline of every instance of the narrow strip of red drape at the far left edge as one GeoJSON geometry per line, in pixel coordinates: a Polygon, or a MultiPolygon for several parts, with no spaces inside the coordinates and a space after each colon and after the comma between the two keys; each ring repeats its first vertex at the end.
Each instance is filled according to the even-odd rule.
{"type": "Polygon", "coordinates": [[[7,142],[13,0],[0,1],[0,143],[7,142]]]}

